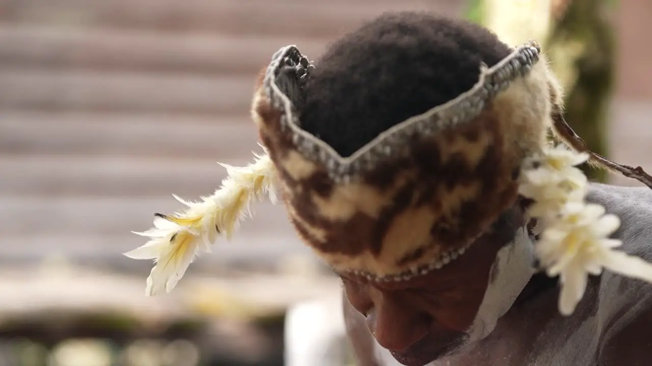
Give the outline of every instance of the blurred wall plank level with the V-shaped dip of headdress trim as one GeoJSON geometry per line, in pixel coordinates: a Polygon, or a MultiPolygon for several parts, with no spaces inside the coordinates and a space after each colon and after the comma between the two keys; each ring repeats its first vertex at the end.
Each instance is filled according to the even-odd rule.
{"type": "MultiPolygon", "coordinates": [[[[223,162],[244,166],[253,158],[223,162]]],[[[215,160],[120,156],[0,155],[0,171],[0,195],[16,197],[198,197],[213,193],[226,178],[215,160]]]]}

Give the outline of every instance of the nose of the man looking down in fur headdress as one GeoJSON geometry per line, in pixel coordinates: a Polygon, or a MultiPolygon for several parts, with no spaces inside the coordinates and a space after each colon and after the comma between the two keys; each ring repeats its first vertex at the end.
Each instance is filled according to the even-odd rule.
{"type": "Polygon", "coordinates": [[[367,326],[379,345],[391,351],[404,351],[421,341],[430,331],[430,317],[396,296],[374,296],[374,308],[367,315],[367,326]]]}

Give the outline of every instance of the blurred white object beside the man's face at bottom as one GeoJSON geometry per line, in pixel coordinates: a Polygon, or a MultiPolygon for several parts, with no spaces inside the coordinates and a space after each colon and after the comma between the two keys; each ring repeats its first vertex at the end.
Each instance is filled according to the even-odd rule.
{"type": "Polygon", "coordinates": [[[285,323],[286,366],[342,366],[348,348],[342,294],[289,307],[285,323]]]}

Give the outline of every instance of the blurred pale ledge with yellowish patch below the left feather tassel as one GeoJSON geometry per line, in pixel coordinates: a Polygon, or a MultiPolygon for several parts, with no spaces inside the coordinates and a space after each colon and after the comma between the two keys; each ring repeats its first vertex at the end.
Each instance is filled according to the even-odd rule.
{"type": "MultiPolygon", "coordinates": [[[[183,278],[183,286],[179,283],[170,294],[147,297],[143,296],[142,277],[65,263],[32,267],[29,272],[23,269],[9,267],[1,272],[2,326],[12,325],[7,324],[10,319],[29,322],[30,318],[36,321],[50,318],[68,323],[83,315],[102,314],[104,318],[132,318],[136,326],[156,328],[175,320],[185,320],[186,324],[195,320],[213,325],[213,329],[218,330],[213,322],[230,313],[226,308],[228,303],[244,305],[248,309],[242,309],[243,313],[257,309],[250,313],[256,315],[259,311],[282,311],[296,302],[341,292],[340,280],[334,277],[251,273],[221,278],[188,275],[183,278]],[[211,295],[218,294],[221,296],[211,298],[211,295]],[[219,311],[220,308],[224,313],[219,311]],[[53,315],[60,317],[56,319],[53,315]]],[[[128,324],[122,322],[119,325],[128,324]]]]}

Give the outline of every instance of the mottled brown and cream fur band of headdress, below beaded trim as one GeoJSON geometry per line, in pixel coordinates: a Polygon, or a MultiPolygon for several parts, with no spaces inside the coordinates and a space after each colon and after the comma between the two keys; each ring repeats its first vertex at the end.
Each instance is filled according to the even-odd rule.
{"type": "Polygon", "coordinates": [[[400,279],[453,260],[514,204],[523,159],[546,143],[550,75],[544,61],[534,63],[472,119],[388,145],[346,180],[299,148],[263,78],[252,115],[303,241],[335,270],[400,279]]]}

